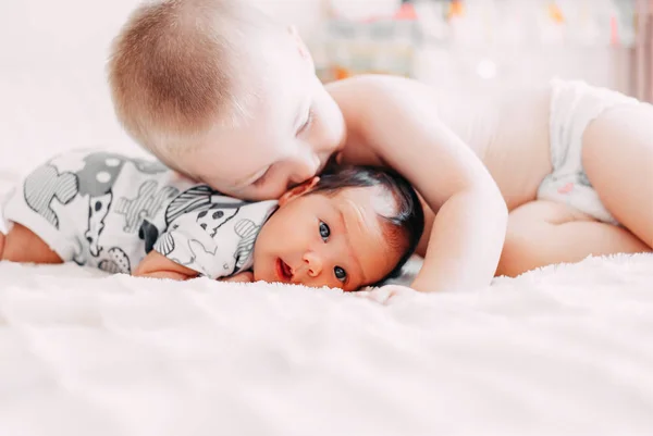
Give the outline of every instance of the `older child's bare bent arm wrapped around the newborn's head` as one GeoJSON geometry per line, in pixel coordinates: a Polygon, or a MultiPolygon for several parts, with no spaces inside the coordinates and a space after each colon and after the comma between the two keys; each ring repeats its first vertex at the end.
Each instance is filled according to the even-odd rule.
{"type": "Polygon", "coordinates": [[[423,85],[368,77],[359,92],[360,142],[403,174],[436,212],[416,290],[486,286],[501,256],[507,208],[481,160],[438,116],[423,85]]]}

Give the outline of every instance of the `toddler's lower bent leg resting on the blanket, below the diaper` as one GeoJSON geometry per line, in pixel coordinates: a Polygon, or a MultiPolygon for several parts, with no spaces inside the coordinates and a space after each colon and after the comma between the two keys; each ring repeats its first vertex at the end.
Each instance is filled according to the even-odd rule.
{"type": "Polygon", "coordinates": [[[496,275],[517,276],[590,254],[652,251],[625,228],[600,223],[566,204],[531,201],[508,216],[508,228],[496,275]]]}

